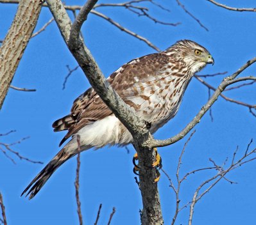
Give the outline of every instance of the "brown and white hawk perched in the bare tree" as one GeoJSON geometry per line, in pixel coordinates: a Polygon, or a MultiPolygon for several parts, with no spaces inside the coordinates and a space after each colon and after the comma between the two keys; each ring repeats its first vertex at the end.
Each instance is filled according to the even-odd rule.
{"type": "MultiPolygon", "coordinates": [[[[177,113],[182,97],[193,75],[207,64],[214,64],[209,51],[191,40],[180,40],[168,49],[133,59],[108,77],[107,81],[119,96],[151,126],[155,133],[177,113]]],[[[89,88],[76,98],[71,113],[53,123],[54,131],[68,130],[57,155],[22,192],[33,198],[66,160],[80,151],[106,145],[124,146],[133,143],[133,137],[94,89],[89,88]]]]}

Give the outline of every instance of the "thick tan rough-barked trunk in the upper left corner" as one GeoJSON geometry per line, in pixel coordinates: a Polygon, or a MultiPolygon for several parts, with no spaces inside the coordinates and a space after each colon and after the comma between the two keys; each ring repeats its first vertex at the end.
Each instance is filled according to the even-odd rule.
{"type": "Polygon", "coordinates": [[[30,37],[37,25],[41,0],[21,0],[0,48],[0,109],[30,37]]]}

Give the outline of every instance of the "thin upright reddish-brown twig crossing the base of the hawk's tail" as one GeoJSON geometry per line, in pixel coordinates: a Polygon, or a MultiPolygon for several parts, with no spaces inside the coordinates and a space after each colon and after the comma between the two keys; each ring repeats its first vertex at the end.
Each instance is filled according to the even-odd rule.
{"type": "Polygon", "coordinates": [[[78,142],[78,157],[77,159],[77,166],[76,166],[76,181],[74,182],[74,187],[76,188],[76,205],[78,206],[77,212],[78,212],[78,219],[79,224],[83,225],[83,216],[81,215],[81,201],[79,198],[79,174],[80,174],[80,136],[76,136],[76,140],[78,142]]]}

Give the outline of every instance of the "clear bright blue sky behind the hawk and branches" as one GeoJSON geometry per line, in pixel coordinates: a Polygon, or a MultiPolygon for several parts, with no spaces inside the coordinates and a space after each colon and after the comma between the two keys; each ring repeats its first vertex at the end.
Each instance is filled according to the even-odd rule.
{"type": "MultiPolygon", "coordinates": [[[[80,1],[65,3],[83,4],[80,1]]],[[[215,59],[215,65],[207,66],[201,74],[228,71],[230,75],[248,59],[255,57],[256,31],[252,25],[256,19],[255,13],[230,12],[204,0],[182,1],[209,29],[207,32],[183,12],[176,1],[158,3],[169,8],[171,13],[150,7],[154,17],[182,24],[177,27],[163,26],[117,8],[100,8],[99,11],[135,33],[145,36],[162,50],[185,38],[200,43],[215,59]]],[[[230,1],[221,3],[231,4],[230,1]]],[[[232,1],[232,6],[255,7],[255,1],[235,0],[232,1]]],[[[0,4],[0,39],[3,39],[8,31],[16,8],[15,4],[0,4]]],[[[49,10],[43,8],[35,31],[49,19],[49,10]]],[[[87,46],[106,76],[130,59],[155,52],[145,43],[126,35],[95,15],[89,16],[83,26],[83,33],[87,46]]],[[[22,155],[41,160],[45,164],[60,150],[58,143],[65,134],[54,133],[51,124],[68,114],[73,100],[89,88],[85,75],[81,70],[77,70],[67,81],[65,90],[62,90],[65,75],[68,73],[66,65],[73,68],[77,63],[67,50],[53,22],[30,41],[24,53],[12,84],[21,88],[35,88],[37,91],[28,93],[10,89],[0,112],[0,133],[9,130],[17,132],[1,137],[0,142],[12,143],[30,136],[30,139],[13,146],[13,150],[19,150],[22,155]]],[[[255,68],[253,65],[241,75],[255,75],[255,68]]],[[[213,86],[218,86],[222,79],[223,76],[220,75],[208,78],[207,81],[213,86]]],[[[161,128],[155,137],[164,139],[180,132],[207,102],[207,91],[207,88],[193,79],[185,93],[179,113],[161,128]]],[[[255,104],[255,84],[230,91],[226,95],[255,104]]],[[[209,114],[206,114],[196,126],[196,133],[183,156],[181,175],[193,169],[211,166],[209,158],[222,164],[226,157],[232,157],[237,146],[237,157],[241,157],[250,139],[255,139],[256,118],[247,108],[219,98],[212,107],[212,114],[213,122],[209,114]]],[[[173,179],[178,156],[187,138],[172,146],[158,149],[162,156],[163,168],[173,179]]],[[[251,148],[255,146],[253,142],[251,148]]],[[[99,224],[107,224],[113,206],[116,213],[112,224],[139,224],[141,195],[132,172],[134,150],[132,146],[128,148],[129,154],[124,148],[116,147],[90,150],[81,154],[80,198],[85,224],[94,223],[100,203],[103,208],[99,224]]],[[[0,190],[4,197],[8,224],[78,224],[74,198],[76,159],[71,159],[60,167],[31,201],[20,198],[20,194],[44,166],[15,160],[17,164],[13,165],[4,155],[0,157],[0,190]]],[[[191,175],[183,183],[180,193],[181,205],[191,201],[198,185],[214,173],[215,171],[209,171],[191,175]]],[[[232,171],[227,177],[238,183],[230,185],[225,180],[219,182],[196,205],[194,224],[253,224],[256,210],[255,174],[256,161],[232,171]]],[[[175,195],[163,174],[158,184],[164,221],[169,224],[175,213],[175,195]]],[[[176,224],[187,224],[188,213],[189,210],[185,208],[176,224]]]]}

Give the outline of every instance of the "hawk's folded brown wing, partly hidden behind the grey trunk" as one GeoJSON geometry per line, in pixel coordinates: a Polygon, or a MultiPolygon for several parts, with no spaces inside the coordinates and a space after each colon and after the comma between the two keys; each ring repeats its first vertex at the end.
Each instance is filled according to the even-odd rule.
{"type": "MultiPolygon", "coordinates": [[[[148,82],[153,81],[152,77],[168,63],[168,60],[169,56],[161,53],[133,59],[111,74],[107,81],[126,104],[136,107],[130,100],[139,94],[137,88],[133,87],[136,80],[139,80],[142,86],[150,86],[151,84],[148,82]]],[[[110,114],[112,111],[108,109],[96,91],[93,88],[87,89],[85,93],[74,100],[71,114],[53,123],[54,131],[68,130],[60,145],[85,125],[101,120],[110,114]]]]}

